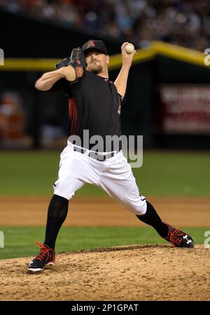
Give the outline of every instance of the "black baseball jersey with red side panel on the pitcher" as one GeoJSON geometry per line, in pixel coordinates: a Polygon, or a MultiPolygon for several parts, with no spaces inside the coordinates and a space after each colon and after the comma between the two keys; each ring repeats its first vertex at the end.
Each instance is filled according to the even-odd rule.
{"type": "Polygon", "coordinates": [[[120,137],[122,98],[113,82],[85,70],[76,83],[60,79],[52,90],[58,88],[64,90],[68,98],[69,135],[78,135],[82,146],[83,130],[89,130],[90,138],[92,135],[101,135],[104,140],[106,135],[120,137]]]}

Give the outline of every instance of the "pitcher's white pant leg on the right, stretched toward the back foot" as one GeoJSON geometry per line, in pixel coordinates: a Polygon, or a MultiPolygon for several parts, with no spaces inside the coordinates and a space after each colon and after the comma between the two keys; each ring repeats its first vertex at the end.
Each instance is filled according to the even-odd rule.
{"type": "Polygon", "coordinates": [[[132,168],[123,156],[123,152],[119,152],[104,163],[99,186],[127,210],[135,215],[144,215],[146,198],[139,194],[132,168]]]}

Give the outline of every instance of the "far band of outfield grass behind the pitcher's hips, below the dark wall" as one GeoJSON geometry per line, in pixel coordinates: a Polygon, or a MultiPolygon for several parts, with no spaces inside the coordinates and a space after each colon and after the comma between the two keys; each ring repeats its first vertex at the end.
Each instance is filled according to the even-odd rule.
{"type": "MultiPolygon", "coordinates": [[[[59,153],[0,151],[0,195],[52,194],[59,153]]],[[[210,153],[144,152],[143,166],[133,173],[145,196],[210,196],[210,153]]],[[[76,194],[105,193],[85,185],[76,194]]]]}

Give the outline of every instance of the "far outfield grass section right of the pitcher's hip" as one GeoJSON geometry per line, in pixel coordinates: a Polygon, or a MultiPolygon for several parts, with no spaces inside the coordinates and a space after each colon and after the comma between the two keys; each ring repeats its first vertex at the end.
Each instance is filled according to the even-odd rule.
{"type": "Polygon", "coordinates": [[[210,196],[210,153],[146,152],[133,173],[146,195],[210,196]]]}

